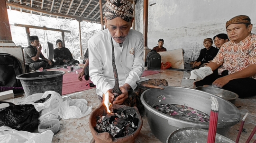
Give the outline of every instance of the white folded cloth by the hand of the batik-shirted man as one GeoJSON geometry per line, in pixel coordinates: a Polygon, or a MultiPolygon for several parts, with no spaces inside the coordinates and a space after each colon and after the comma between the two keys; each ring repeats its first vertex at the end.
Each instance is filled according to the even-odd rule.
{"type": "Polygon", "coordinates": [[[211,75],[213,72],[210,67],[200,67],[191,71],[189,79],[194,79],[195,82],[201,81],[204,77],[211,75]]]}

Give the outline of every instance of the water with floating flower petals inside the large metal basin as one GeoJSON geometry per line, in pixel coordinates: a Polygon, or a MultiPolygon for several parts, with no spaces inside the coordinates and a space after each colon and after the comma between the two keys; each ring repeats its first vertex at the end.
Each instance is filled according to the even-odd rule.
{"type": "Polygon", "coordinates": [[[174,118],[184,121],[209,123],[210,116],[200,110],[177,104],[161,104],[153,107],[154,109],[165,113],[174,118]]]}

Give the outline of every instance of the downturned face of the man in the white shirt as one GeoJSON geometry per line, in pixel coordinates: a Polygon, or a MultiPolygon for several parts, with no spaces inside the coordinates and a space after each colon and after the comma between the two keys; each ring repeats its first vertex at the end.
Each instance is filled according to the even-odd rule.
{"type": "Polygon", "coordinates": [[[133,19],[130,22],[127,22],[120,17],[116,17],[112,20],[107,20],[105,18],[105,23],[110,31],[111,36],[117,43],[122,43],[125,41],[130,27],[132,26],[133,19]]]}

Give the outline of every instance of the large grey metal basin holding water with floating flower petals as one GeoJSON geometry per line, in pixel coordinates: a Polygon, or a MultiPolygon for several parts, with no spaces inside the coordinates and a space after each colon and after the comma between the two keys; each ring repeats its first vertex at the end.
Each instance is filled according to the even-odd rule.
{"type": "Polygon", "coordinates": [[[168,135],[177,129],[184,127],[208,129],[209,123],[180,120],[157,111],[152,105],[185,104],[210,115],[211,101],[209,98],[211,96],[219,101],[217,133],[226,135],[230,127],[239,122],[240,112],[232,103],[219,96],[190,88],[166,86],[164,90],[155,88],[146,90],[142,93],[140,100],[145,106],[146,117],[152,133],[165,143],[168,135]],[[166,99],[158,102],[160,100],[157,98],[159,95],[165,95],[166,99]]]}

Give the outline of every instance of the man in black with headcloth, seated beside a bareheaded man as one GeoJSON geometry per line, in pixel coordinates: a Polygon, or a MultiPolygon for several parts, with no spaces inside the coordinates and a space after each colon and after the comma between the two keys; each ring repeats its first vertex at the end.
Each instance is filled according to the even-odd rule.
{"type": "Polygon", "coordinates": [[[203,46],[205,48],[201,49],[199,57],[193,63],[193,67],[199,67],[204,63],[209,63],[217,55],[218,49],[213,47],[212,43],[211,38],[204,39],[203,46]]]}

